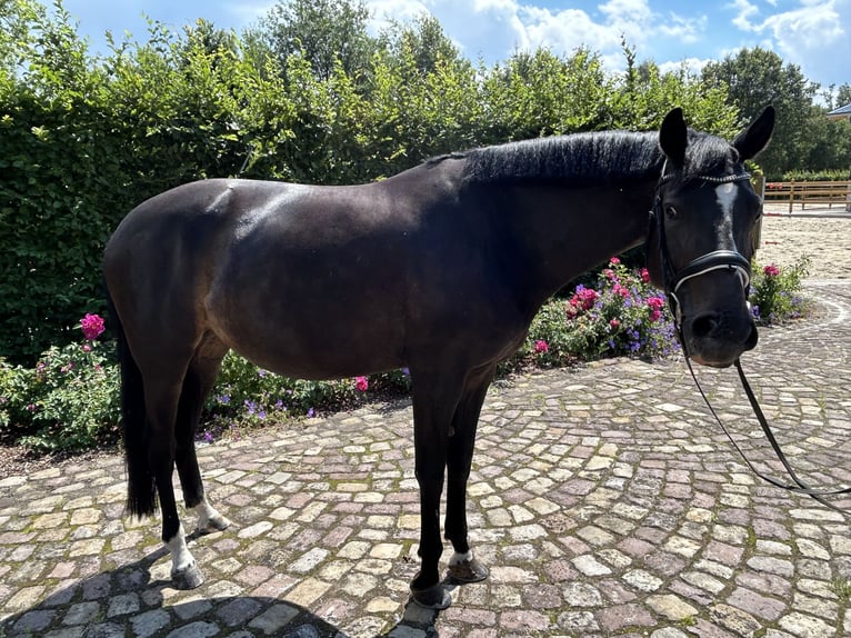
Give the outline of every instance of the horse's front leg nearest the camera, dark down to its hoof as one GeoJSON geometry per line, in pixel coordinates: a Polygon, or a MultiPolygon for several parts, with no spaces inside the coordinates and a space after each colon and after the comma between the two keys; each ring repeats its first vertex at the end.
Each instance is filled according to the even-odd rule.
{"type": "Polygon", "coordinates": [[[430,609],[452,602],[440,582],[440,496],[447,467],[447,441],[462,381],[449,383],[447,375],[426,375],[411,368],[413,379],[413,443],[420,486],[420,571],[411,581],[411,598],[430,609]]]}

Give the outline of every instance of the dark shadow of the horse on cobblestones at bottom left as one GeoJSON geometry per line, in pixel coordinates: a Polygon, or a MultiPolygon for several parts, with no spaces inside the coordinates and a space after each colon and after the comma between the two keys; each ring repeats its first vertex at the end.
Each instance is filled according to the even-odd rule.
{"type": "Polygon", "coordinates": [[[244,595],[234,584],[214,581],[191,592],[177,592],[168,579],[168,552],[161,548],[113,570],[66,581],[40,601],[0,620],[0,638],[439,636],[434,627],[439,612],[411,601],[388,629],[386,617],[341,599],[318,602],[317,611],[326,617],[321,618],[288,601],[286,592],[280,598],[244,595]],[[233,594],[228,592],[229,585],[233,594]]]}

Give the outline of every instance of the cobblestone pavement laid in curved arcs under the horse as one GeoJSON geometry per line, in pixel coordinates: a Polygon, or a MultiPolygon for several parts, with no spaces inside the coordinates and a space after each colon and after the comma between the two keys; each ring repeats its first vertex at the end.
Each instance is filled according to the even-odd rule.
{"type": "MultiPolygon", "coordinates": [[[[743,365],[801,473],[851,485],[851,281],[808,290],[819,318],[763,330],[743,365]]],[[[734,372],[698,373],[780,475],[734,372]]],[[[192,539],[193,591],[169,586],[159,524],[122,516],[118,456],[2,480],[0,636],[851,636],[851,519],[755,478],[681,360],[492,388],[468,506],[491,577],[442,612],[407,602],[410,421],[400,402],[203,447],[234,525],[192,539]]]]}

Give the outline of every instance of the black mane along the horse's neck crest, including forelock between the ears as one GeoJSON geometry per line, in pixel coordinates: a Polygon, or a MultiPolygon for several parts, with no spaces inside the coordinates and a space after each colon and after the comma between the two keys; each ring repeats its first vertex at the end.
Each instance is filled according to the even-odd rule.
{"type": "MultiPolygon", "coordinates": [[[[658,179],[664,163],[655,132],[603,131],[574,133],[509,142],[453,153],[442,159],[464,158],[464,179],[488,183],[559,180],[585,186],[623,180],[658,179]]],[[[684,179],[729,172],[738,160],[721,138],[689,130],[684,179]]]]}

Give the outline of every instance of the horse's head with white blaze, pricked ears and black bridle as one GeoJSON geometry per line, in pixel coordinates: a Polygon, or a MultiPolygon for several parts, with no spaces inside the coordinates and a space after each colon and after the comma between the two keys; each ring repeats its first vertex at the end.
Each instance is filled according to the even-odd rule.
{"type": "Polygon", "coordinates": [[[687,357],[731,365],[757,345],[748,306],[750,260],[760,199],[743,162],[768,143],[768,107],[732,143],[685,127],[682,111],[665,117],[665,154],[648,239],[648,269],[664,286],[687,357]]]}

